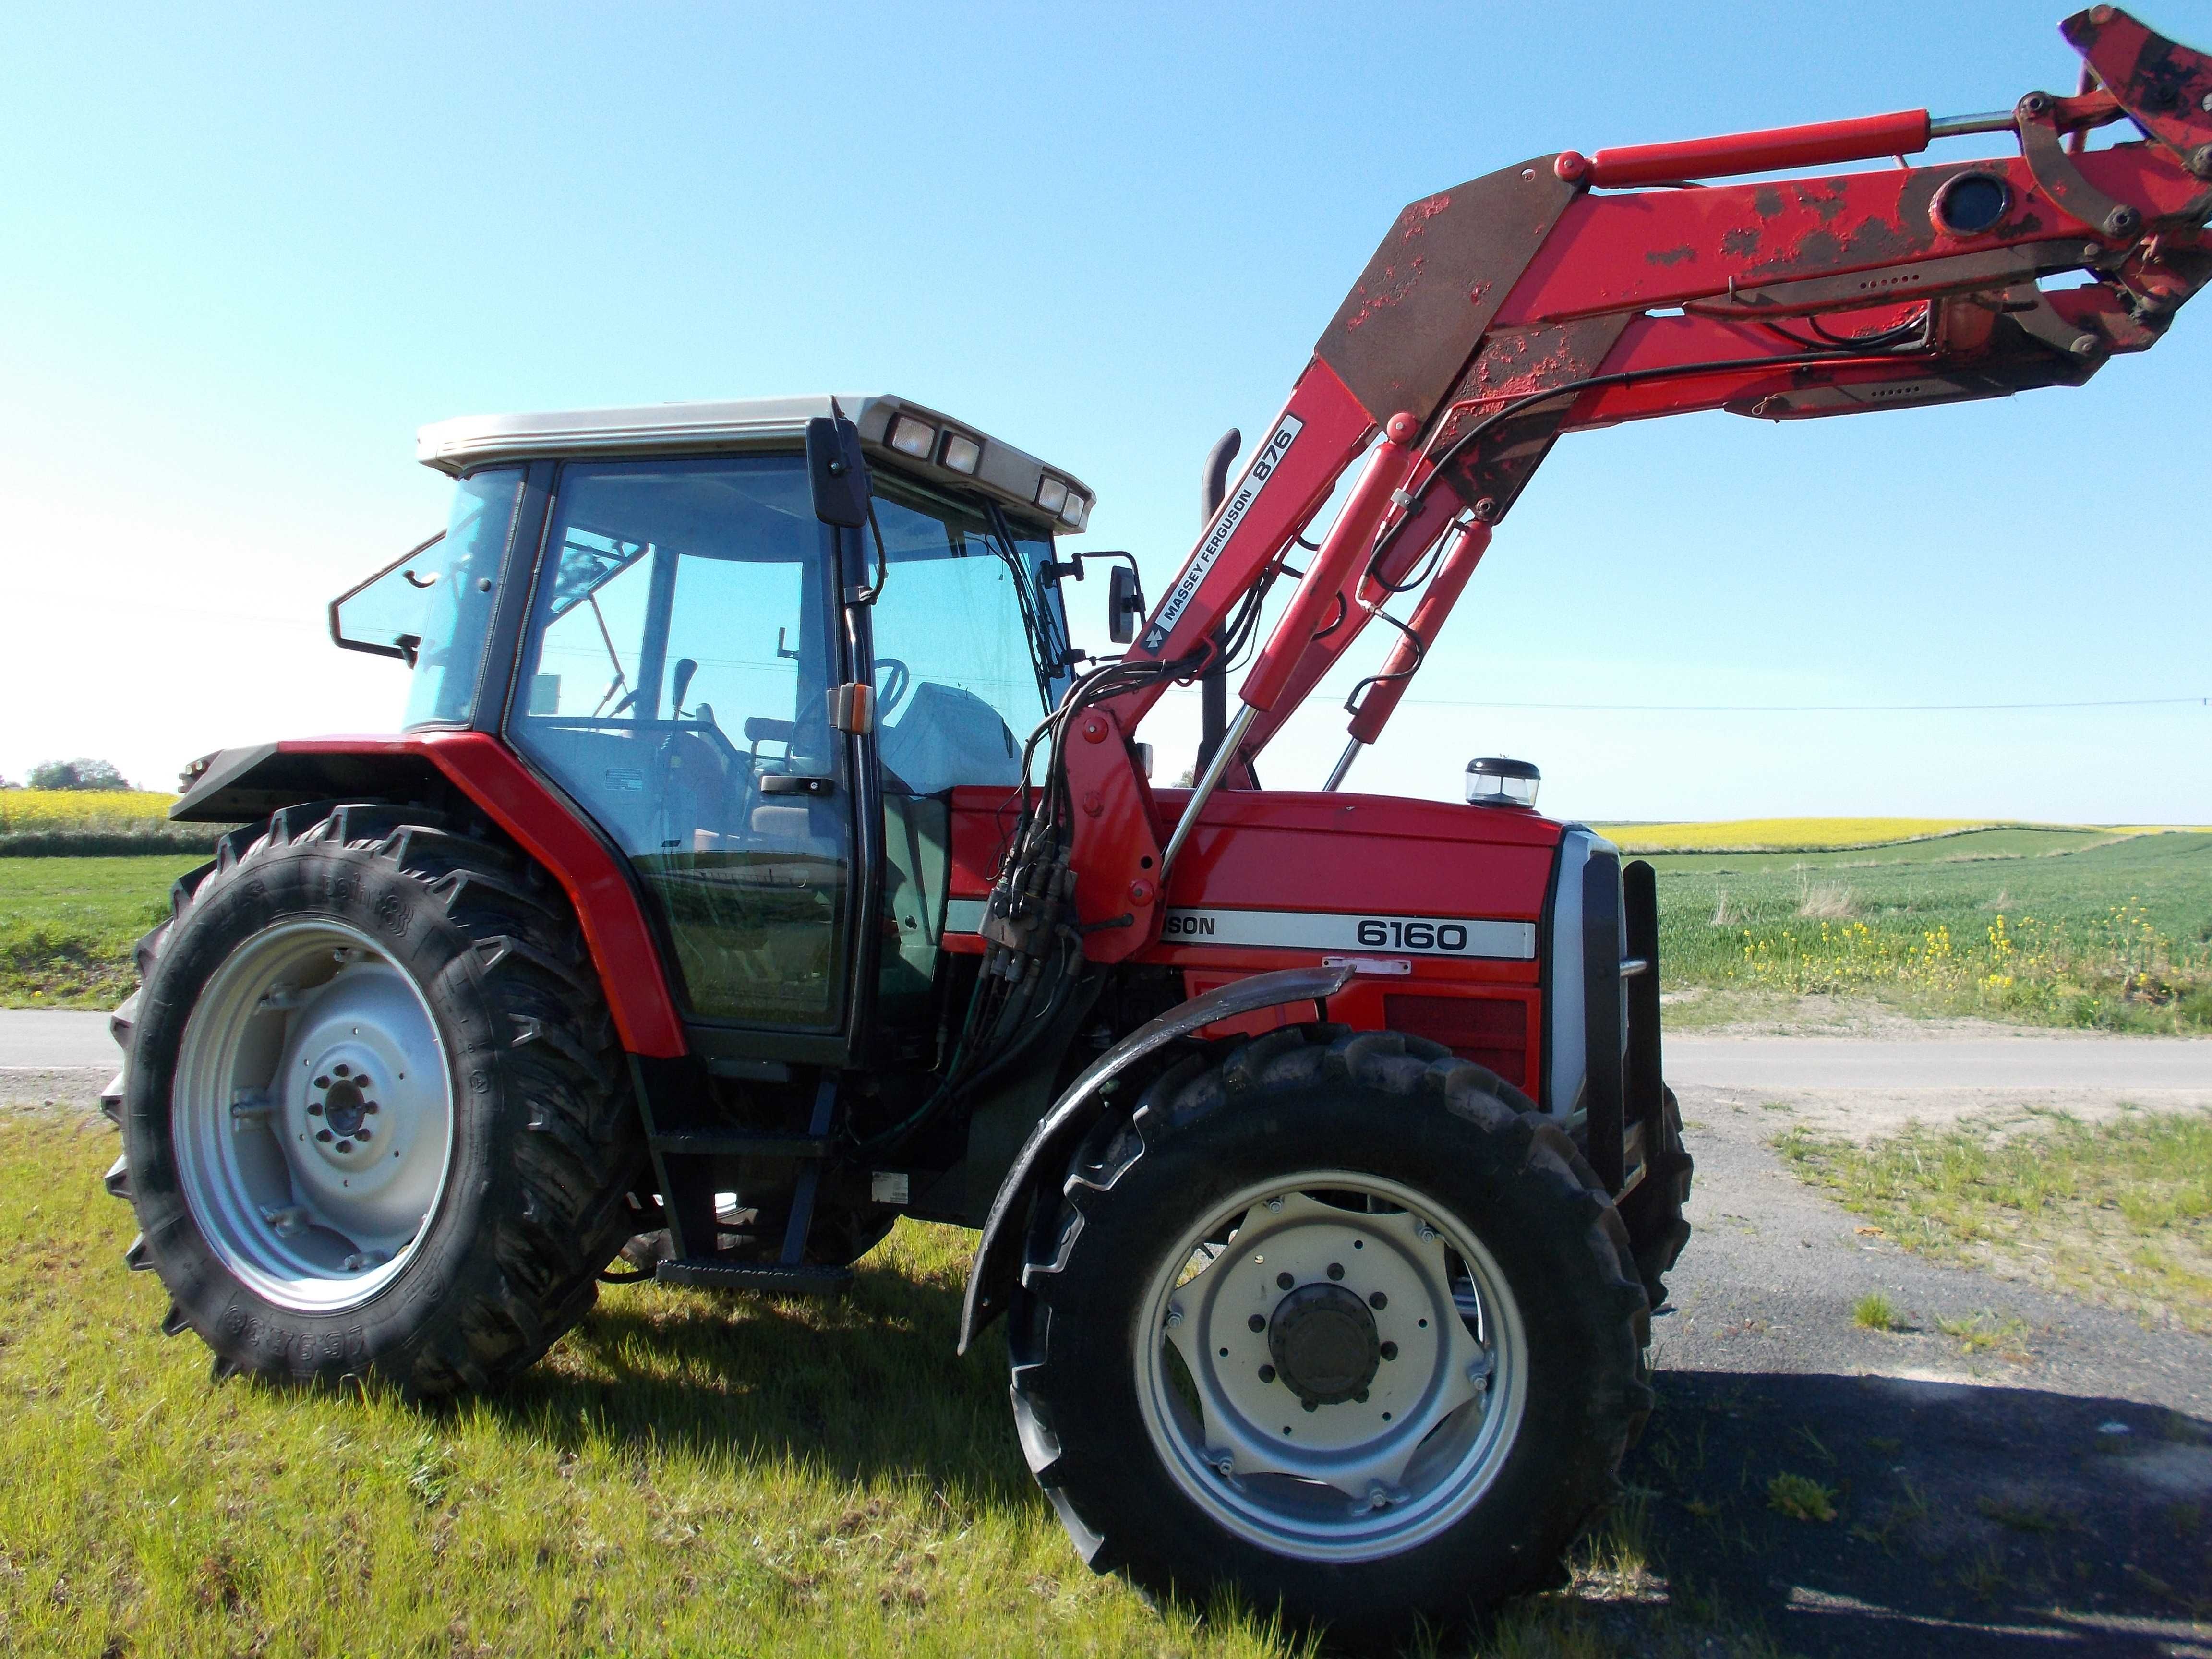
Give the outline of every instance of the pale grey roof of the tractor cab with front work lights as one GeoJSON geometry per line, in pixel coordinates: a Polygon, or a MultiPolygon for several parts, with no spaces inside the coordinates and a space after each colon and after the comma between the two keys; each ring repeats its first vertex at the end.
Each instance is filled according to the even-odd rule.
{"type": "Polygon", "coordinates": [[[914,398],[889,394],[458,416],[416,434],[416,460],[458,478],[493,460],[783,449],[803,440],[807,420],[832,414],[832,405],[860,429],[860,447],[872,462],[940,484],[980,489],[1062,531],[1079,531],[1091,520],[1093,491],[1075,473],[1046,467],[914,398]],[[947,465],[967,460],[969,447],[975,451],[971,465],[947,465]]]}

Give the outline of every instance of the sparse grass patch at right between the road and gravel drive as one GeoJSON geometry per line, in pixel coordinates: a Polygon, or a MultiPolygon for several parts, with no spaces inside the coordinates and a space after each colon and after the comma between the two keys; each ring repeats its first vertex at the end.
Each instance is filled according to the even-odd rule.
{"type": "MultiPolygon", "coordinates": [[[[1794,1128],[1776,1148],[1907,1250],[2212,1332],[2212,1113],[1916,1124],[1871,1146],[1794,1128]]],[[[2024,1332],[1969,1321],[1944,1334],[2008,1352],[2024,1332]]]]}

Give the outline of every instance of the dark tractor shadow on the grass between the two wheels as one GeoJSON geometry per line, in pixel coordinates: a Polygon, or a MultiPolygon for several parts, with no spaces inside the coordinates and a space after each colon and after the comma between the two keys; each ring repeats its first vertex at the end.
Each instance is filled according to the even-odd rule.
{"type": "Polygon", "coordinates": [[[611,1290],[549,1363],[484,1400],[535,1436],[790,1458],[1042,1502],[1006,1405],[1006,1343],[953,1354],[960,1292],[863,1261],[841,1298],[611,1290]]]}

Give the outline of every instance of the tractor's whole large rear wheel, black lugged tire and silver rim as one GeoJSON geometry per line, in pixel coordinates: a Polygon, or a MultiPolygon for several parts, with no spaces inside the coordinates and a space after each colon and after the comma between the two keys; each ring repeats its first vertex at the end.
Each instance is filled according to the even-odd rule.
{"type": "Polygon", "coordinates": [[[108,1190],[217,1374],[484,1389],[588,1312],[644,1135],[542,869],[294,807],[177,883],[139,971],[108,1190]]]}

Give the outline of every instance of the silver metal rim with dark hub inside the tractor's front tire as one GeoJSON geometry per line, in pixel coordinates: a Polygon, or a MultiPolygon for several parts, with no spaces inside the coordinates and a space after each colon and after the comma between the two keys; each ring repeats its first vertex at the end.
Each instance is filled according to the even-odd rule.
{"type": "Polygon", "coordinates": [[[1528,1387],[1520,1307],[1473,1228],[1352,1170],[1276,1177],[1201,1214],[1155,1270],[1133,1349],[1183,1495],[1312,1562],[1455,1526],[1511,1453],[1528,1387]]]}

